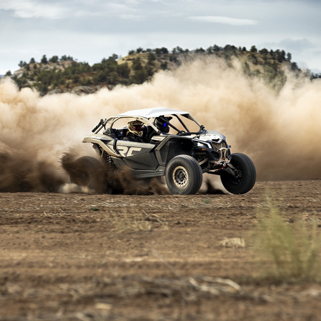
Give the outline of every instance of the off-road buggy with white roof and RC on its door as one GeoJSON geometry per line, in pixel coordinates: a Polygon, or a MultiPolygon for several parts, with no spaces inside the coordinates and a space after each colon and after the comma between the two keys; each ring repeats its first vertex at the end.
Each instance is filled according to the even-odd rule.
{"type": "MultiPolygon", "coordinates": [[[[252,160],[241,153],[231,154],[224,135],[205,129],[186,111],[132,110],[101,119],[92,132],[82,142],[93,144],[102,163],[115,171],[128,167],[134,179],[165,176],[172,194],[197,193],[203,173],[219,175],[223,186],[233,194],[247,193],[256,181],[252,160]],[[156,127],[156,119],[167,123],[169,133],[156,127]],[[127,134],[126,124],[132,120],[143,123],[143,143],[123,140],[127,134]],[[116,128],[118,121],[123,127],[116,128]]],[[[82,169],[82,175],[71,174],[71,181],[104,192],[106,186],[102,189],[103,178],[98,170],[102,163],[90,156],[75,162],[82,169]]]]}

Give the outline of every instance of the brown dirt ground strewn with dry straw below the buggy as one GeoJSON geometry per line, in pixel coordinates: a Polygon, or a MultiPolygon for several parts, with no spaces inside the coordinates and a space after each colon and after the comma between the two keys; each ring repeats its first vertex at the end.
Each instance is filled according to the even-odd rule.
{"type": "Polygon", "coordinates": [[[0,320],[321,320],[321,284],[262,277],[266,195],[289,224],[321,227],[320,180],[246,195],[1,193],[0,320]]]}

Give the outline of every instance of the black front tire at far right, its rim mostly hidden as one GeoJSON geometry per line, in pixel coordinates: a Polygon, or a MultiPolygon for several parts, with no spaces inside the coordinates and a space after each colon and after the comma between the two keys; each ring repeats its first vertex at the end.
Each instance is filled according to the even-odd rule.
{"type": "Polygon", "coordinates": [[[237,178],[228,172],[222,172],[221,182],[232,194],[245,194],[250,191],[256,181],[256,169],[253,161],[244,154],[232,154],[231,164],[236,168],[237,178]]]}

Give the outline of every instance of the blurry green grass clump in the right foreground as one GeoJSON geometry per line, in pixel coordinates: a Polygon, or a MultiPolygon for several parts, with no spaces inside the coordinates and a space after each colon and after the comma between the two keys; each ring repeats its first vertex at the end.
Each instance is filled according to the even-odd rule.
{"type": "Polygon", "coordinates": [[[269,203],[269,213],[261,215],[258,247],[273,262],[273,276],[282,281],[321,280],[321,236],[316,226],[304,221],[290,224],[269,203]]]}

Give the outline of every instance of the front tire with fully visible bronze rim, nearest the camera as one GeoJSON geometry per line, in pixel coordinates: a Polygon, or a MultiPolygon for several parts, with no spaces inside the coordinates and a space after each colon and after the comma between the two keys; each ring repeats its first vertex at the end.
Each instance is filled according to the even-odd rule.
{"type": "Polygon", "coordinates": [[[165,169],[166,184],[172,194],[195,194],[201,188],[203,173],[191,156],[179,155],[171,159],[165,169]]]}

